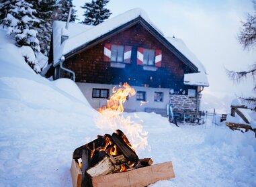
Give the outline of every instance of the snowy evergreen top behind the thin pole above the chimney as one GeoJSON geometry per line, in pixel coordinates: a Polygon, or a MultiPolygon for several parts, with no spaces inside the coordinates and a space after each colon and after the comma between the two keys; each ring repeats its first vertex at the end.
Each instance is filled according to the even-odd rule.
{"type": "MultiPolygon", "coordinates": [[[[69,16],[69,9],[73,7],[72,0],[60,0],[58,1],[58,9],[56,10],[56,19],[60,21],[67,21],[69,16]]],[[[75,15],[77,11],[72,8],[71,11],[71,22],[74,22],[77,19],[77,15],[75,15]]]]}

